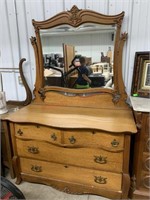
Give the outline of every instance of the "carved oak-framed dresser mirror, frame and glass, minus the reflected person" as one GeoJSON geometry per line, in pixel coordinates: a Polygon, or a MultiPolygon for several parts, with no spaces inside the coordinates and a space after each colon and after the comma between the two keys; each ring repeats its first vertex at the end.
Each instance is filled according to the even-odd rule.
{"type": "Polygon", "coordinates": [[[39,91],[105,92],[126,97],[122,78],[122,51],[127,34],[121,34],[124,12],[103,15],[73,6],[45,21],[33,20],[31,38],[36,58],[35,96],[39,91]],[[89,89],[75,89],[78,70],[74,57],[83,56],[91,79],[89,89]],[[41,90],[42,89],[42,90],[41,90]]]}

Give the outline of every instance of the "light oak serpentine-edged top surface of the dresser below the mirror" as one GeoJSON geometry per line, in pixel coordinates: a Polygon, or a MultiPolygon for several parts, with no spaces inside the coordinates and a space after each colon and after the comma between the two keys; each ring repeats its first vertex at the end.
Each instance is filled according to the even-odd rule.
{"type": "Polygon", "coordinates": [[[136,133],[130,110],[30,104],[8,115],[18,123],[37,123],[57,128],[87,128],[109,132],[136,133]]]}

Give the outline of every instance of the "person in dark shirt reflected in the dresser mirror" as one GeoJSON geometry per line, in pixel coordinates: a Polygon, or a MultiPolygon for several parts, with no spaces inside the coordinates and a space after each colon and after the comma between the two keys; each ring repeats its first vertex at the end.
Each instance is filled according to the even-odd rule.
{"type": "Polygon", "coordinates": [[[78,71],[78,78],[75,81],[75,88],[76,89],[84,89],[89,88],[91,85],[91,80],[89,79],[89,71],[86,67],[85,57],[81,56],[79,59],[74,60],[74,66],[77,68],[78,71]]]}

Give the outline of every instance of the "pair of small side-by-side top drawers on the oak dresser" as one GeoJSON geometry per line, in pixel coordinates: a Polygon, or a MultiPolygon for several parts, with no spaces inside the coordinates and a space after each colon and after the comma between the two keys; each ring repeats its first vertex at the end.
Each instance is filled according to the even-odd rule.
{"type": "Polygon", "coordinates": [[[15,125],[16,136],[19,138],[34,138],[46,140],[55,144],[66,144],[68,146],[84,146],[109,148],[109,150],[122,150],[124,145],[124,135],[108,134],[104,132],[92,131],[66,131],[49,128],[40,125],[15,125]],[[88,142],[87,142],[88,141],[88,142]]]}

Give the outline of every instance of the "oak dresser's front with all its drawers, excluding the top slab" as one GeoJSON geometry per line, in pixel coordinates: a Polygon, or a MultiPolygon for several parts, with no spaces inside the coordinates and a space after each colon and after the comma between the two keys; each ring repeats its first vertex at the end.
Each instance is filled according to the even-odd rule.
{"type": "Polygon", "coordinates": [[[65,187],[72,193],[80,193],[82,185],[81,193],[122,197],[129,136],[34,123],[12,123],[11,129],[16,183],[56,184],[61,190],[59,183],[63,182],[62,190],[65,187]]]}

